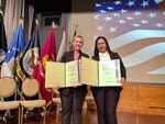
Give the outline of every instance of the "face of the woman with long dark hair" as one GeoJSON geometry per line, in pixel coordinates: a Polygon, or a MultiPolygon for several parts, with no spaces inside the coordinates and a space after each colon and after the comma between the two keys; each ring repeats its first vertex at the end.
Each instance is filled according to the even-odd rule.
{"type": "Polygon", "coordinates": [[[107,45],[106,45],[106,42],[103,41],[103,38],[98,40],[97,47],[100,53],[107,52],[107,45]]]}

